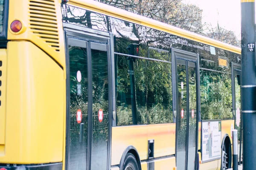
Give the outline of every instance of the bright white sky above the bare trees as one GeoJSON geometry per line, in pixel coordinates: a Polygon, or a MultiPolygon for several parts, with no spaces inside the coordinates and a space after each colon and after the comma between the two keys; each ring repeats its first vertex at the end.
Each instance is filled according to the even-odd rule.
{"type": "Polygon", "coordinates": [[[241,39],[241,0],[182,0],[203,10],[202,23],[219,25],[241,39]]]}

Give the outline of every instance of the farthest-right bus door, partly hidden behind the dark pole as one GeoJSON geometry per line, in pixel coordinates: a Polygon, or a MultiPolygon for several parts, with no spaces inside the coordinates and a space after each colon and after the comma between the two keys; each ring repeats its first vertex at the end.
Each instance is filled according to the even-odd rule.
{"type": "Polygon", "coordinates": [[[241,115],[241,65],[231,63],[232,69],[232,110],[238,132],[238,162],[242,161],[242,115],[241,115]]]}

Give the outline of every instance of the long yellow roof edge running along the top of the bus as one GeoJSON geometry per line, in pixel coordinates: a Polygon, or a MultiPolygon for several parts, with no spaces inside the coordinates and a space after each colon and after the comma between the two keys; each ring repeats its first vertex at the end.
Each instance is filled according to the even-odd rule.
{"type": "Polygon", "coordinates": [[[104,3],[99,3],[95,0],[69,0],[68,4],[72,6],[76,6],[78,8],[83,7],[90,11],[93,11],[99,14],[105,14],[110,17],[119,18],[121,20],[125,20],[131,23],[136,23],[149,28],[154,28],[154,29],[164,31],[169,34],[173,34],[189,40],[201,42],[203,44],[207,44],[216,48],[221,48],[223,50],[231,51],[236,54],[241,54],[241,48],[235,47],[233,45],[229,45],[224,42],[213,40],[211,38],[204,37],[202,35],[195,34],[193,32],[189,32],[181,28],[177,28],[175,26],[170,26],[168,24],[165,24],[147,17],[143,17],[138,14],[134,14],[132,12],[125,11],[123,9],[106,5],[104,3]]]}

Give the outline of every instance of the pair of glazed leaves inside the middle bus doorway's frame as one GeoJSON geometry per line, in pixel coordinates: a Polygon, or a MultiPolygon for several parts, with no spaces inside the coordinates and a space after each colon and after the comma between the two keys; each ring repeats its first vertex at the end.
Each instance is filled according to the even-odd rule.
{"type": "Polygon", "coordinates": [[[177,59],[177,169],[194,170],[197,140],[196,62],[177,59]]]}

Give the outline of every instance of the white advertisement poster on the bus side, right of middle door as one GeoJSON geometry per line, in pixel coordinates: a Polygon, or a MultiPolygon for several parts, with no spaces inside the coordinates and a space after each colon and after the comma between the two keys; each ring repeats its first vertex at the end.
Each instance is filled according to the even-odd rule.
{"type": "Polygon", "coordinates": [[[221,121],[202,122],[202,161],[221,158],[221,121]]]}

